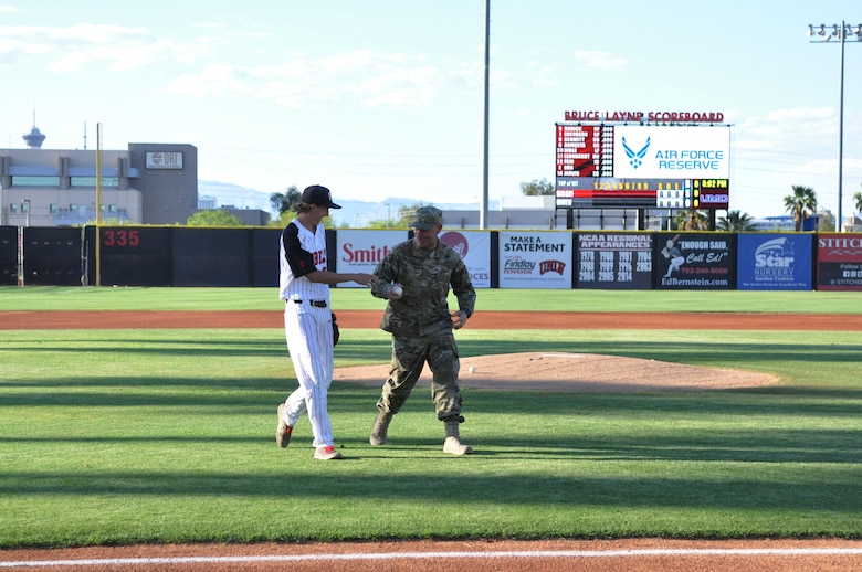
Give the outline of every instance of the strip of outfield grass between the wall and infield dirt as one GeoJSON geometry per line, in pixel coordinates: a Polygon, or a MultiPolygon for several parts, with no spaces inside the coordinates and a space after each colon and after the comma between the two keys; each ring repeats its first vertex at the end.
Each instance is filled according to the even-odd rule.
{"type": "MultiPolygon", "coordinates": [[[[333,288],[333,306],[381,309],[366,288],[333,288]]],[[[477,292],[476,309],[533,311],[765,311],[862,314],[858,292],[498,289],[477,292]]],[[[1,310],[271,310],[277,288],[77,288],[0,286],[1,310]]]]}

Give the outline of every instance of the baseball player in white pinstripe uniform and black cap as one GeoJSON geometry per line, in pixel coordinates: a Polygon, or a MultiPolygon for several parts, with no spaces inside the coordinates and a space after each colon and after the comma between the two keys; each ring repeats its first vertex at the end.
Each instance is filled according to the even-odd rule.
{"type": "Polygon", "coordinates": [[[314,434],[314,458],[343,458],[333,444],[327,393],[333,381],[333,313],[329,285],[355,282],[371,286],[374,274],[338,274],[327,271],[326,233],[323,221],[333,202],[326,187],[313,184],[303,191],[296,218],[284,227],[280,247],[280,297],[284,300],[284,332],[299,386],[278,405],[275,441],[291,442],[293,427],[307,412],[314,434]]]}

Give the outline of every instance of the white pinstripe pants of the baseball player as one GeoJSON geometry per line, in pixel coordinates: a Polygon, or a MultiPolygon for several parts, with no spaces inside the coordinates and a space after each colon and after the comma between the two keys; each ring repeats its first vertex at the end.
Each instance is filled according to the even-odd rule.
{"type": "Polygon", "coordinates": [[[327,411],[327,394],[333,382],[332,310],[303,301],[287,300],[284,308],[284,332],[287,351],[299,388],[285,400],[285,423],[295,425],[307,412],[314,434],[314,446],[333,445],[333,428],[327,411]]]}

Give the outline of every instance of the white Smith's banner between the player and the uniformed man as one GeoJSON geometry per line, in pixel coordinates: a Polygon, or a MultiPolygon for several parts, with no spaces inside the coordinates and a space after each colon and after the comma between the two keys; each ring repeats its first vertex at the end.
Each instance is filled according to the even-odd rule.
{"type": "MultiPolygon", "coordinates": [[[[408,232],[404,230],[339,230],[336,234],[335,268],[330,264],[329,269],[339,273],[371,274],[383,256],[407,239],[408,232]]],[[[344,282],[338,284],[338,287],[365,288],[366,286],[354,282],[344,282]]]]}

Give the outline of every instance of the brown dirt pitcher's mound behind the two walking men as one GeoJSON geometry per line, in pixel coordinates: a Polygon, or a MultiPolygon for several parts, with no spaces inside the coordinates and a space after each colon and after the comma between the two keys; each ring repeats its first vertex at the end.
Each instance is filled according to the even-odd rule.
{"type": "MultiPolygon", "coordinates": [[[[389,366],[338,368],[335,381],[380,386],[389,366]]],[[[715,391],[756,388],[777,378],[719,368],[592,353],[505,353],[461,358],[461,386],[547,391],[715,391]]],[[[425,366],[418,385],[428,386],[425,366]]]]}

